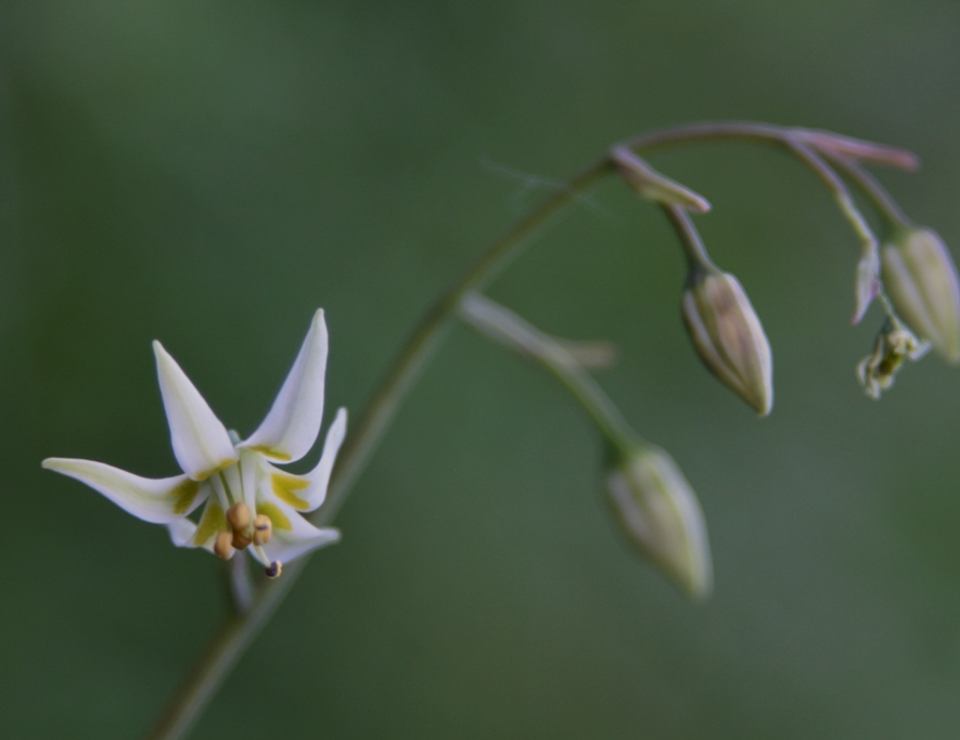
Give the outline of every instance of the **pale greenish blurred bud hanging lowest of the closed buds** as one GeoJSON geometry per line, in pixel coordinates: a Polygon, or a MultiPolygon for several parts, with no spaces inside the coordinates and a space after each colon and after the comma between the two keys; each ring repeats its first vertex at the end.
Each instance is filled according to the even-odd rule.
{"type": "Polygon", "coordinates": [[[606,494],[630,543],[694,599],[713,588],[706,523],[696,495],[666,451],[615,454],[606,494]]]}

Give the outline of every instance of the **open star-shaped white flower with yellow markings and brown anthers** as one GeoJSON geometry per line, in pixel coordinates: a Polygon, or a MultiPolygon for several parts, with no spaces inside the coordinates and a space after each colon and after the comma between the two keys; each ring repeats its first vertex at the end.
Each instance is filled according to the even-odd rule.
{"type": "Polygon", "coordinates": [[[227,431],[159,342],[153,350],[174,455],[183,474],[145,479],[102,462],[66,458],[48,458],[43,467],[86,483],[138,519],[165,524],[178,547],[203,547],[223,559],[249,547],[271,577],[280,574],[282,563],[338,540],[340,532],[315,527],[302,512],[313,511],[327,497],[346,434],[346,409],[337,411],[311,472],[294,475],[273,464],[303,458],[320,433],[327,373],[323,310],[313,316],[267,418],[244,441],[227,431]],[[204,502],[200,519],[190,519],[204,502]]]}

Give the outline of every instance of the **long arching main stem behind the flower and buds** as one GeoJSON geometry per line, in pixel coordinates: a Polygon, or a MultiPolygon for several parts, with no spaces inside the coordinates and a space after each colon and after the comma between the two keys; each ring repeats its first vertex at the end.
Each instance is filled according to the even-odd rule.
{"type": "MultiPolygon", "coordinates": [[[[817,149],[832,148],[831,151],[841,154],[905,168],[909,168],[913,163],[909,152],[871,142],[827,132],[742,122],[664,129],[627,141],[625,145],[633,150],[653,150],[670,144],[711,139],[747,139],[783,145],[789,142],[791,136],[797,136],[798,131],[806,137],[811,146],[817,149]]],[[[334,470],[328,500],[313,516],[315,524],[329,524],[343,506],[401,403],[443,342],[463,296],[486,285],[521,253],[529,237],[540,226],[579,192],[601,176],[612,171],[615,171],[615,168],[609,155],[586,167],[563,189],[553,193],[538,208],[517,221],[453,288],[431,307],[374,393],[356,430],[347,437],[334,470]]],[[[248,611],[242,614],[232,612],[223,618],[206,650],[149,736],[151,740],[175,740],[187,736],[246,646],[269,621],[303,573],[306,562],[307,558],[302,558],[289,565],[278,580],[261,583],[256,589],[248,611]]]]}

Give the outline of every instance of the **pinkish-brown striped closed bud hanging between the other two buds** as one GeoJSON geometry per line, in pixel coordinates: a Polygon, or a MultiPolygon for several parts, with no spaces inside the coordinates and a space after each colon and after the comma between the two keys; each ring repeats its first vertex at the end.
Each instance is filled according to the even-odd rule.
{"type": "Polygon", "coordinates": [[[692,267],[682,311],[707,370],[761,417],[768,414],[773,406],[770,344],[737,278],[692,267]]]}

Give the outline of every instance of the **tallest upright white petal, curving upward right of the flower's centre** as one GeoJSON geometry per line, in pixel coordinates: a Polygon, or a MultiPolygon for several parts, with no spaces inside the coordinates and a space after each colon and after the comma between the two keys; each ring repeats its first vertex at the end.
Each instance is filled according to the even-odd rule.
{"type": "Polygon", "coordinates": [[[325,375],[327,322],[321,308],[313,315],[307,337],[267,418],[241,446],[281,462],[299,460],[309,452],[323,417],[325,375]]]}

